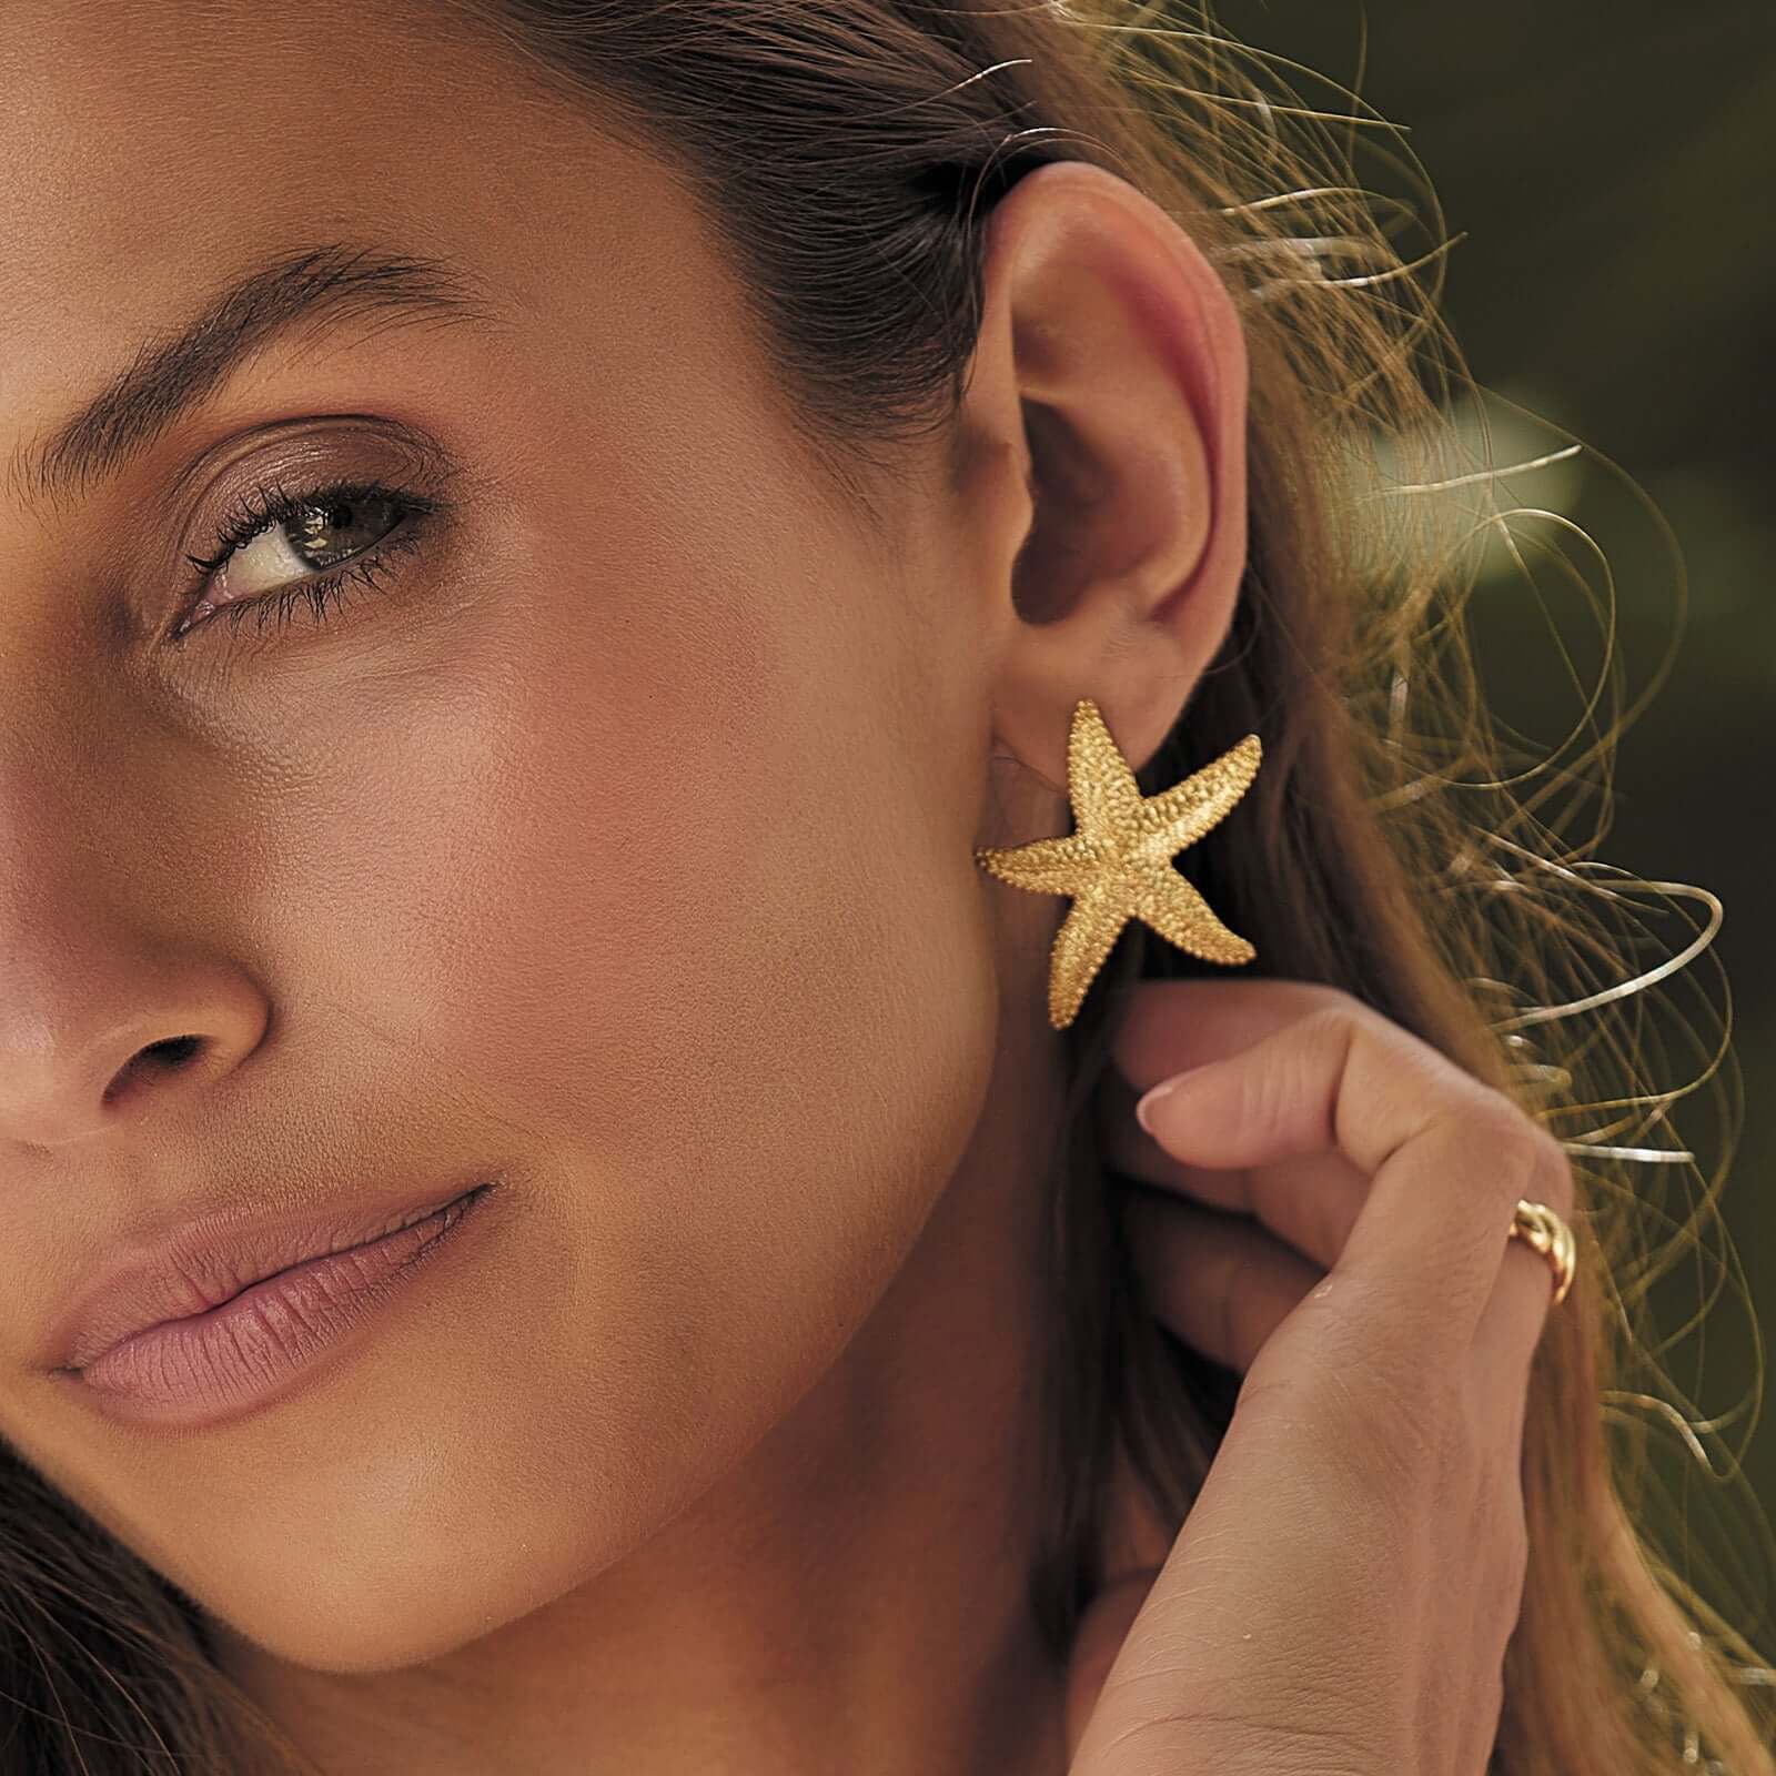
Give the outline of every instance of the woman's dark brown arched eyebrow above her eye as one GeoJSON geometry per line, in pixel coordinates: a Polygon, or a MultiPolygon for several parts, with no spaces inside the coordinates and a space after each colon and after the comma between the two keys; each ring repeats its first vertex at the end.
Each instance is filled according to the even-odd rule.
{"type": "Polygon", "coordinates": [[[149,336],[131,362],[48,439],[21,446],[9,485],[27,503],[78,497],[117,474],[220,389],[256,350],[307,321],[488,323],[504,316],[481,279],[444,256],[330,242],[250,266],[195,314],[149,336]]]}

